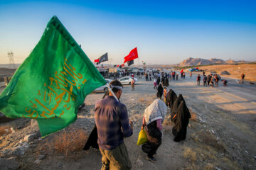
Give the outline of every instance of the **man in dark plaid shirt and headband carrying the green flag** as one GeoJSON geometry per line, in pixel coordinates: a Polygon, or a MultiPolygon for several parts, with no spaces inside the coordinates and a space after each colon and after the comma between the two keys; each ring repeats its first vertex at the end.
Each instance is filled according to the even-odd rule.
{"type": "Polygon", "coordinates": [[[127,107],[117,101],[122,95],[123,86],[118,80],[110,82],[110,95],[95,104],[95,123],[97,126],[102,170],[132,169],[124,137],[132,135],[132,122],[129,121],[127,107]]]}

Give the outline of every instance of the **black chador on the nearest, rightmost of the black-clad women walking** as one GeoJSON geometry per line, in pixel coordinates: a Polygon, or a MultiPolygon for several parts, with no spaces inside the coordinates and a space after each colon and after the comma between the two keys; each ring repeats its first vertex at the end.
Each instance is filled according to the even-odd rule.
{"type": "Polygon", "coordinates": [[[181,140],[186,139],[186,131],[190,118],[191,114],[189,113],[188,107],[186,106],[186,102],[181,101],[178,106],[178,113],[176,115],[175,125],[172,129],[172,132],[175,136],[175,142],[180,142],[181,140]]]}

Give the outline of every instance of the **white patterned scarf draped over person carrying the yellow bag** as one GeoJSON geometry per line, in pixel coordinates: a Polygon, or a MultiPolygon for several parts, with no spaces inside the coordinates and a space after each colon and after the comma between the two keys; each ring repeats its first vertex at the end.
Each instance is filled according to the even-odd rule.
{"type": "Polygon", "coordinates": [[[149,123],[158,119],[161,119],[163,122],[166,116],[166,112],[166,103],[160,99],[154,100],[153,103],[151,103],[151,105],[149,105],[149,107],[147,107],[144,111],[146,125],[149,125],[149,123]]]}

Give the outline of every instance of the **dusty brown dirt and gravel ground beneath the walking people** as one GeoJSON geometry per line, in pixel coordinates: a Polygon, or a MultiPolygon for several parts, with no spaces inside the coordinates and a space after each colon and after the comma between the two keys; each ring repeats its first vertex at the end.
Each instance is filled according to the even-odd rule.
{"type": "MultiPolygon", "coordinates": [[[[238,86],[235,81],[229,80],[227,87],[220,84],[210,88],[197,86],[196,77],[189,79],[186,75],[186,79],[171,80],[167,88],[182,94],[191,109],[193,118],[188,126],[186,140],[174,142],[168,110],[164,137],[155,163],[147,161],[141,146],[137,146],[144,109],[156,98],[153,81],[139,79],[135,91],[131,91],[130,86],[124,86],[120,100],[126,104],[129,118],[134,122],[132,137],[124,140],[132,169],[256,169],[255,85],[238,86]],[[244,91],[244,94],[240,95],[239,91],[244,91]]],[[[0,157],[15,157],[20,164],[19,169],[100,169],[101,154],[97,149],[53,152],[55,145],[49,141],[63,131],[73,134],[71,130],[83,130],[89,134],[95,125],[95,102],[103,95],[88,95],[85,98],[86,106],[78,113],[75,123],[65,130],[28,143],[24,154],[14,156],[10,153],[11,149],[23,143],[23,137],[38,132],[37,123],[31,125],[29,120],[24,119],[1,123],[2,126],[10,125],[15,132],[0,137],[0,157]],[[38,159],[42,154],[46,157],[38,159]]],[[[75,137],[69,135],[66,140],[74,140],[72,138],[75,137]]],[[[84,145],[85,141],[81,143],[84,145]]]]}

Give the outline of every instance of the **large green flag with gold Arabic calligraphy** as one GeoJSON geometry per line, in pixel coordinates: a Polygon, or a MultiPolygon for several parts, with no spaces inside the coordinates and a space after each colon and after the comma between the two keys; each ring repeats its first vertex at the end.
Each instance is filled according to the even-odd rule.
{"type": "Polygon", "coordinates": [[[56,16],[0,95],[9,118],[38,121],[42,136],[73,123],[87,94],[105,79],[56,16]]]}

